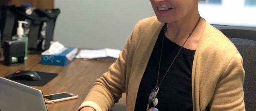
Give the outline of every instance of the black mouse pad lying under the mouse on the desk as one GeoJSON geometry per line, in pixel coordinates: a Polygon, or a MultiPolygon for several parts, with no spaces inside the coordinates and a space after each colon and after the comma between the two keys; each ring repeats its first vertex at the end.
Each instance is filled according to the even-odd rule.
{"type": "Polygon", "coordinates": [[[38,75],[40,75],[41,80],[40,81],[24,81],[24,80],[12,80],[12,75],[10,74],[8,76],[6,76],[5,78],[21,83],[21,84],[25,84],[25,85],[32,85],[32,86],[44,86],[45,84],[49,83],[53,78],[55,78],[58,74],[57,73],[45,73],[45,72],[37,72],[36,73],[38,75]]]}

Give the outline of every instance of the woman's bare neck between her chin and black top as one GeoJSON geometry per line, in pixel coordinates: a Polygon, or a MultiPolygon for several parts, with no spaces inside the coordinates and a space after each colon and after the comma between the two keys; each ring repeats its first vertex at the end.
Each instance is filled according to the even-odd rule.
{"type": "Polygon", "coordinates": [[[199,16],[199,12],[196,10],[183,17],[183,19],[168,23],[166,37],[172,41],[186,39],[196,25],[199,16]]]}

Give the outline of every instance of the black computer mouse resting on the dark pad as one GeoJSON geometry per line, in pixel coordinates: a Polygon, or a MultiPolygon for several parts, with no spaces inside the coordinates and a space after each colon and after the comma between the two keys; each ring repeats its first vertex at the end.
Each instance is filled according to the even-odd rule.
{"type": "Polygon", "coordinates": [[[12,76],[13,80],[40,81],[41,77],[34,71],[16,71],[12,76]]]}

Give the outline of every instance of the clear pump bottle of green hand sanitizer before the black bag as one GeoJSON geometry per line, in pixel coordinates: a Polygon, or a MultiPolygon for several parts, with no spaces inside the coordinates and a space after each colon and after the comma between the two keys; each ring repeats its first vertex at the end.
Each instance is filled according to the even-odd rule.
{"type": "Polygon", "coordinates": [[[22,28],[22,24],[27,24],[26,21],[18,21],[19,27],[17,28],[17,35],[12,37],[12,40],[23,40],[25,41],[25,57],[24,60],[27,59],[27,51],[29,46],[29,38],[24,35],[24,29],[22,28]]]}

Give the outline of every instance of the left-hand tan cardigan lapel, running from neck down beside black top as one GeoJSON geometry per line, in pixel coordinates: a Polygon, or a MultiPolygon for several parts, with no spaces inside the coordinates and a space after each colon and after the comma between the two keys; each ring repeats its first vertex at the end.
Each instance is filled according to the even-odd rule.
{"type": "Polygon", "coordinates": [[[144,74],[144,71],[147,67],[148,60],[151,56],[152,50],[157,41],[158,35],[163,28],[164,24],[157,21],[157,24],[149,26],[143,30],[143,34],[138,41],[138,47],[135,50],[135,57],[132,60],[135,64],[132,66],[134,69],[130,74],[130,80],[132,81],[128,84],[128,97],[127,97],[127,111],[134,111],[138,88],[140,86],[141,78],[144,74]],[[144,47],[141,47],[144,46],[144,47]]]}

